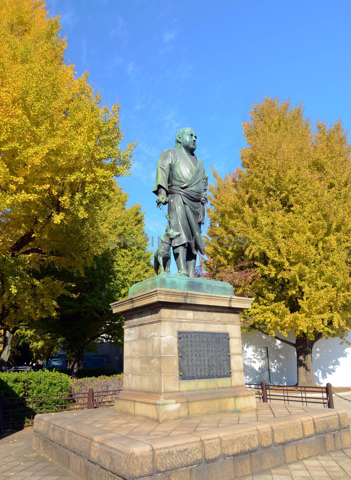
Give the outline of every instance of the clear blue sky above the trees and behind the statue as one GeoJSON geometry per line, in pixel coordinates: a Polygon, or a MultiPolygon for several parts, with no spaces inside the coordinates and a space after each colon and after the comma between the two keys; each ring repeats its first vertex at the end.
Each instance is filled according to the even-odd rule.
{"type": "MultiPolygon", "coordinates": [[[[104,101],[121,103],[125,141],[138,139],[119,180],[161,234],[152,194],[162,150],[193,127],[210,174],[240,165],[241,122],[264,95],[302,100],[305,114],[351,127],[348,0],[48,0],[68,37],[66,57],[104,101]]],[[[210,175],[211,181],[211,175],[210,175]]]]}

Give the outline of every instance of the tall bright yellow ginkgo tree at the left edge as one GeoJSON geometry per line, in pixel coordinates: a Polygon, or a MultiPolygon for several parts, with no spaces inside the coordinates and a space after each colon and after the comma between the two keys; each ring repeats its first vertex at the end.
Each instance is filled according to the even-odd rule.
{"type": "Polygon", "coordinates": [[[99,211],[128,174],[119,105],[65,58],[58,18],[41,0],[0,2],[0,367],[19,325],[55,313],[65,283],[31,272],[72,271],[105,248],[99,211]]]}

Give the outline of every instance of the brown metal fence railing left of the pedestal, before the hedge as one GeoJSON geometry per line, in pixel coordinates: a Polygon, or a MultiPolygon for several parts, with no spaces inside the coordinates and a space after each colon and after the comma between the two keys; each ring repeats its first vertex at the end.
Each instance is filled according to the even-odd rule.
{"type": "Polygon", "coordinates": [[[5,398],[0,394],[0,433],[33,425],[38,413],[55,413],[84,408],[109,407],[120,390],[99,390],[62,395],[5,398]]]}

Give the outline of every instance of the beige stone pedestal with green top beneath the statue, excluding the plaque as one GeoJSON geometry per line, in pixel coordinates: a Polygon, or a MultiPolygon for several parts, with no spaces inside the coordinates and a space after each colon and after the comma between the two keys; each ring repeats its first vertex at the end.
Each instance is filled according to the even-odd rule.
{"type": "Polygon", "coordinates": [[[134,285],[128,299],[111,305],[125,317],[116,413],[164,422],[255,408],[244,385],[239,318],[251,303],[225,282],[164,275],[134,285]],[[178,332],[228,334],[230,376],[183,380],[178,332]]]}

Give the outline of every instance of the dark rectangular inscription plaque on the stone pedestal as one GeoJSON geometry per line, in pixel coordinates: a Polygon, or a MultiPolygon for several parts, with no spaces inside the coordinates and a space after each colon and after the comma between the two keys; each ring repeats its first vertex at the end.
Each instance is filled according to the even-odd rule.
{"type": "Polygon", "coordinates": [[[178,332],[179,380],[230,377],[229,335],[178,332]]]}

